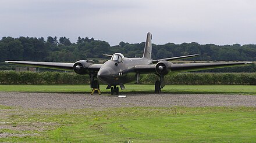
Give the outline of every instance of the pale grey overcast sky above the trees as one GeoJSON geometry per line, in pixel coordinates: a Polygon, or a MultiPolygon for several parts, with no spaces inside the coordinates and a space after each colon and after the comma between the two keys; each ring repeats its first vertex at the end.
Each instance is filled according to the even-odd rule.
{"type": "Polygon", "coordinates": [[[255,0],[1,0],[0,37],[153,43],[256,43],[255,0]]]}

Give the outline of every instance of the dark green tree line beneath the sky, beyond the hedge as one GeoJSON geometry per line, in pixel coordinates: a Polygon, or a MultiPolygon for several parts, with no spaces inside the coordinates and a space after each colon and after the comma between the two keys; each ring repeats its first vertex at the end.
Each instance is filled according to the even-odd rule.
{"type": "MultiPolygon", "coordinates": [[[[70,42],[65,36],[57,38],[48,36],[44,38],[2,37],[0,40],[0,62],[5,60],[26,61],[54,61],[74,62],[88,58],[106,58],[102,54],[123,53],[126,57],[141,57],[145,42],[127,43],[111,46],[106,41],[94,38],[77,39],[76,43],[70,42]]],[[[187,54],[200,54],[191,60],[203,61],[256,61],[256,45],[214,45],[199,43],[166,43],[164,45],[152,45],[152,57],[166,58],[187,54]]]]}

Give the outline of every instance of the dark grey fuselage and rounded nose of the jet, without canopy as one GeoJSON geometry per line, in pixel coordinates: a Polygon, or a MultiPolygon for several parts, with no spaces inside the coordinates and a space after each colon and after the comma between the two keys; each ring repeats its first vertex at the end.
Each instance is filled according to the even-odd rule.
{"type": "Polygon", "coordinates": [[[124,85],[136,80],[135,65],[148,64],[152,64],[152,60],[147,58],[124,58],[120,63],[108,60],[99,69],[97,78],[109,86],[124,85]]]}

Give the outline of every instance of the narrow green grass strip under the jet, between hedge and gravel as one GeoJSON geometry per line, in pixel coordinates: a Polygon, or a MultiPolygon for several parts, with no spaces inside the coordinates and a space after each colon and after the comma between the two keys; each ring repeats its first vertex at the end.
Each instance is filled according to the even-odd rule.
{"type": "MultiPolygon", "coordinates": [[[[154,85],[125,85],[126,90],[120,92],[154,93],[154,85]]],[[[101,85],[103,94],[109,94],[110,90],[101,85]]],[[[0,91],[22,92],[67,92],[90,93],[89,85],[0,85],[0,91]]],[[[188,94],[251,94],[256,95],[256,86],[247,85],[166,85],[163,93],[188,93],[188,94]]]]}

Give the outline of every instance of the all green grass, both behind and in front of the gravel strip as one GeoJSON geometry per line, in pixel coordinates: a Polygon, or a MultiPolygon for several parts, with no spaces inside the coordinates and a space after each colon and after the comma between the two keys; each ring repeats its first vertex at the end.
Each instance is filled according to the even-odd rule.
{"type": "MultiPolygon", "coordinates": [[[[109,91],[103,87],[102,91],[109,91]]],[[[0,85],[0,91],[90,90],[87,85],[0,85]]],[[[153,93],[154,85],[126,85],[123,91],[153,93]]],[[[171,85],[163,92],[256,95],[256,86],[171,85]]],[[[0,142],[255,141],[255,107],[29,109],[0,105],[0,142]]]]}

